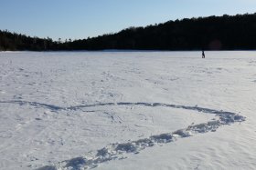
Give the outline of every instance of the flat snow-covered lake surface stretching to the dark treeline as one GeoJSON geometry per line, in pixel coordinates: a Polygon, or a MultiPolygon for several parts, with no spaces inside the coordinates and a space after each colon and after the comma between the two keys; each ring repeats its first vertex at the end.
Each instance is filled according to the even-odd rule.
{"type": "Polygon", "coordinates": [[[256,169],[256,51],[2,52],[0,169],[256,169]]]}

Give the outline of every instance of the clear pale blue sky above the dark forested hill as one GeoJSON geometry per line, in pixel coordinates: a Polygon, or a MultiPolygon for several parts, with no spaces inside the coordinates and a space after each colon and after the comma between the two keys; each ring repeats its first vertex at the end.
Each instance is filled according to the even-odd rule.
{"type": "Polygon", "coordinates": [[[1,0],[0,29],[74,40],[130,26],[245,13],[256,13],[256,0],[1,0]]]}

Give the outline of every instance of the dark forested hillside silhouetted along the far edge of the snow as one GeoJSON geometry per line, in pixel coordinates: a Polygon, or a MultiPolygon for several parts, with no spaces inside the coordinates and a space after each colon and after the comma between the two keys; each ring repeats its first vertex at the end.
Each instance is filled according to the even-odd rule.
{"type": "Polygon", "coordinates": [[[71,41],[0,30],[0,50],[250,50],[256,49],[256,13],[184,18],[115,34],[71,41]]]}

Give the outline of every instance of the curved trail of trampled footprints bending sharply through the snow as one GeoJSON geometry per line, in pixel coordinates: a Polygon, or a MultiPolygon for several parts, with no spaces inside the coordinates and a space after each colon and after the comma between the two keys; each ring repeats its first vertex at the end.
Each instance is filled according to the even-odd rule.
{"type": "Polygon", "coordinates": [[[140,151],[144,150],[147,147],[152,147],[154,145],[165,144],[176,141],[178,138],[189,137],[196,135],[198,133],[208,133],[210,131],[216,131],[220,125],[230,125],[236,122],[245,121],[245,117],[238,115],[232,112],[225,112],[222,110],[214,110],[198,106],[186,106],[186,105],[170,105],[170,104],[161,104],[161,103],[130,103],[130,102],[119,102],[119,103],[98,103],[92,105],[76,105],[69,107],[61,107],[58,105],[48,105],[41,104],[37,102],[28,102],[20,100],[11,100],[11,101],[0,101],[2,104],[15,104],[15,105],[31,105],[35,107],[45,107],[52,111],[58,112],[61,110],[77,110],[88,107],[95,106],[105,106],[105,105],[143,105],[149,107],[172,107],[180,108],[187,110],[194,110],[206,114],[214,114],[217,116],[215,120],[208,121],[207,123],[198,124],[198,125],[189,125],[187,128],[178,129],[175,132],[170,132],[167,134],[152,135],[148,138],[139,139],[136,141],[129,141],[123,144],[110,144],[105,147],[95,151],[93,153],[88,153],[85,156],[75,157],[70,160],[60,162],[56,165],[47,165],[38,170],[57,170],[57,169],[90,169],[97,167],[101,163],[126,158],[127,154],[139,154],[140,151]]]}

